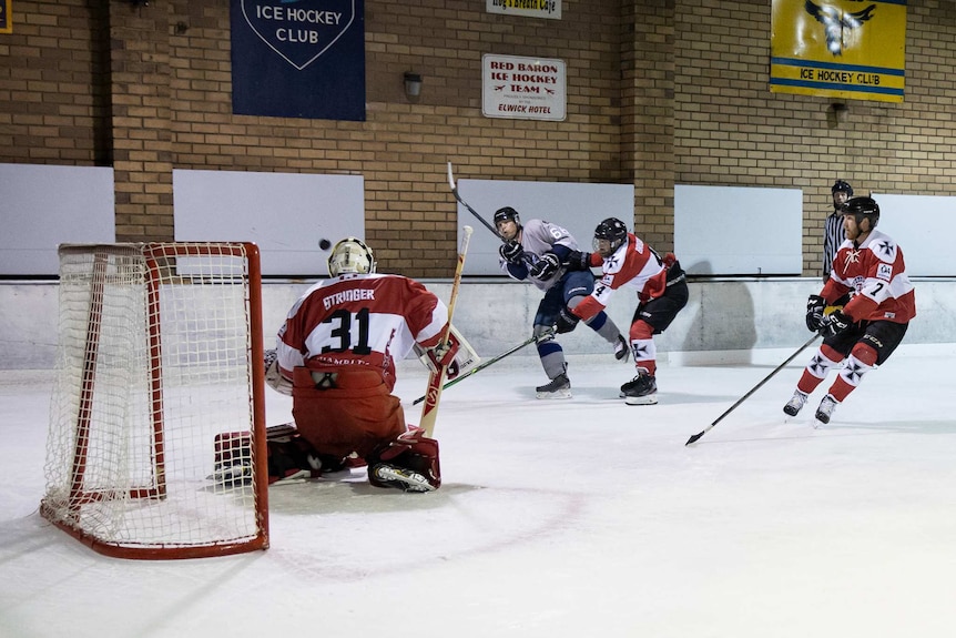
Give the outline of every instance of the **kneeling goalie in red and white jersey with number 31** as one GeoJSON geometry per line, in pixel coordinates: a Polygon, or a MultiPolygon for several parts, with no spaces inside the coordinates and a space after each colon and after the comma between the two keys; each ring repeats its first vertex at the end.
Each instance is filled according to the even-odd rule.
{"type": "MultiPolygon", "coordinates": [[[[277,369],[267,378],[273,387],[292,383],[298,433],[328,469],[354,453],[367,463],[373,485],[436,489],[438,444],[406,425],[391,389],[396,359],[416,343],[439,346],[448,308],[414,280],[377,274],[372,249],[355,237],[335,245],[328,272],[332,279],[289,310],[278,331],[277,369]]],[[[456,351],[433,354],[447,364],[456,351]]]]}

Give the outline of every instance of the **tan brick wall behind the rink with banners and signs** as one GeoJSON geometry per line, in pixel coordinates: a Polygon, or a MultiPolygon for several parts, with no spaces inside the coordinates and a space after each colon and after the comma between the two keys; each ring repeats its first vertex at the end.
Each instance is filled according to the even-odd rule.
{"type": "Polygon", "coordinates": [[[469,179],[633,183],[634,226],[661,250],[674,183],[802,188],[805,274],[834,179],[956,194],[952,2],[908,4],[906,101],[850,101],[838,125],[830,100],[769,92],[765,0],[565,0],[560,21],[480,0],[365,7],[367,121],[336,122],[232,114],[228,2],[17,0],[0,162],[113,165],[119,240],[172,236],[173,168],[362,173],[382,269],[431,277],[455,266],[447,161],[469,179]],[[563,59],[567,120],[482,117],[484,53],[563,59]]]}

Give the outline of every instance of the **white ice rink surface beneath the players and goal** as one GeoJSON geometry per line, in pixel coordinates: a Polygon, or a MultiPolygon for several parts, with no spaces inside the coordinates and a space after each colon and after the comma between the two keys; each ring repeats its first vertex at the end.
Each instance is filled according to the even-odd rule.
{"type": "MultiPolygon", "coordinates": [[[[0,636],[952,637],[954,351],[902,346],[814,429],[834,373],[781,412],[812,350],[691,447],[790,353],[663,364],[655,406],[618,398],[611,355],[572,359],[568,401],[511,357],[445,391],[440,490],[273,487],[267,551],[184,561],[39,516],[50,373],[0,372],[0,636]]],[[[410,423],[425,384],[396,387],[410,423]]]]}

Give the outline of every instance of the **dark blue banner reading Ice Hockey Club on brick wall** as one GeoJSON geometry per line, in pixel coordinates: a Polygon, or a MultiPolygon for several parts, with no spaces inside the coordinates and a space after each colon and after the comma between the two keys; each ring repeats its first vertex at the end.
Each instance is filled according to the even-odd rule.
{"type": "Polygon", "coordinates": [[[364,0],[231,0],[233,113],[365,120],[364,0]]]}

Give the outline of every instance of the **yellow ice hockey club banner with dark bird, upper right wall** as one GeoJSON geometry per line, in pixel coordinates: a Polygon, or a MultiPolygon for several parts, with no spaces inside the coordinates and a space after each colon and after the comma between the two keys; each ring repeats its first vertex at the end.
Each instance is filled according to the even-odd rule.
{"type": "Polygon", "coordinates": [[[773,0],[770,90],[902,102],[906,0],[773,0]]]}

